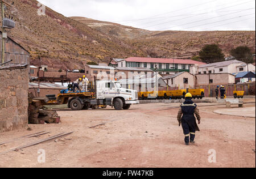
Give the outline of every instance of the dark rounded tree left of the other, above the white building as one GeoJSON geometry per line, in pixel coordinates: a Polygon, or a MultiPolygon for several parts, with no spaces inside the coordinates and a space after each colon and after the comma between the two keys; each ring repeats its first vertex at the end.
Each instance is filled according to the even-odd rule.
{"type": "Polygon", "coordinates": [[[205,63],[215,63],[225,60],[225,56],[217,44],[205,45],[204,48],[199,52],[199,57],[205,63]]]}

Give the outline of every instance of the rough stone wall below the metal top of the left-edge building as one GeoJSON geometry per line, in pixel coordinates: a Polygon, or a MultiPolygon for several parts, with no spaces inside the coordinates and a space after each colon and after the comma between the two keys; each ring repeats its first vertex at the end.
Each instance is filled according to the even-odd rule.
{"type": "Polygon", "coordinates": [[[0,133],[27,127],[28,68],[0,70],[0,133]]]}

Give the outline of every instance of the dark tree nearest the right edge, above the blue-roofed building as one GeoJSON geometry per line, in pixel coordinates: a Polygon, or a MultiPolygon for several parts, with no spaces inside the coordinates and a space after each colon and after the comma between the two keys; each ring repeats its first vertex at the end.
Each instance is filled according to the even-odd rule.
{"type": "MultiPolygon", "coordinates": [[[[251,49],[248,46],[238,46],[236,49],[232,49],[230,51],[230,54],[233,57],[236,57],[236,59],[245,62],[247,65],[247,72],[249,73],[249,63],[253,63],[253,52],[251,52],[251,49]]],[[[250,81],[250,78],[248,78],[248,82],[250,81]]]]}

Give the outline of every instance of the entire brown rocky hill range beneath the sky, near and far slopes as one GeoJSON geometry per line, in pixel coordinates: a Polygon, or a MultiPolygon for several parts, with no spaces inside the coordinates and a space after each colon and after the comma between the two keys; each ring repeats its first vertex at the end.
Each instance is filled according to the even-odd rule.
{"type": "Polygon", "coordinates": [[[227,55],[238,45],[255,49],[255,31],[146,31],[88,18],[67,18],[48,7],[46,15],[40,16],[38,1],[13,1],[6,15],[14,17],[16,27],[8,30],[8,35],[30,52],[32,65],[57,70],[81,69],[86,61],[109,62],[111,57],[189,58],[211,43],[220,44],[227,55]]]}

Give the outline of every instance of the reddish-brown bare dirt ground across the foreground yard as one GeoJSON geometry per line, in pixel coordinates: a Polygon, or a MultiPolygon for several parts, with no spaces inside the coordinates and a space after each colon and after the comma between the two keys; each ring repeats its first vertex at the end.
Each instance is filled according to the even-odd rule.
{"type": "MultiPolygon", "coordinates": [[[[59,110],[60,124],[29,125],[32,131],[2,133],[0,143],[43,130],[51,131],[51,136],[70,131],[73,134],[0,155],[0,167],[254,168],[255,118],[221,115],[214,110],[225,106],[202,105],[213,104],[199,104],[201,131],[196,133],[196,144],[190,146],[184,145],[184,134],[178,127],[178,109],[172,109],[179,104],[141,104],[121,111],[110,107],[59,110]],[[106,124],[89,128],[101,123],[106,124]],[[46,151],[46,163],[38,163],[40,149],[46,151]],[[216,151],[216,163],[209,163],[209,150],[216,151]]],[[[0,146],[0,153],[48,137],[18,139],[0,146]]]]}

